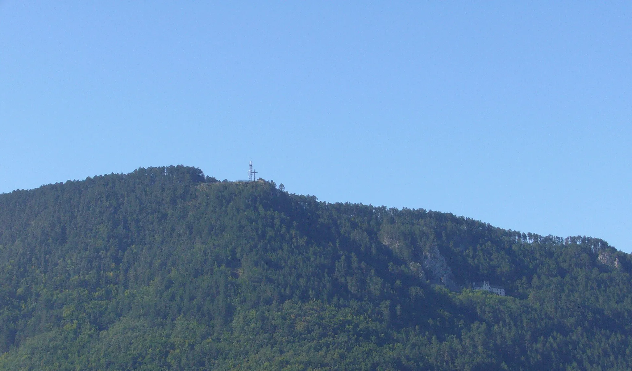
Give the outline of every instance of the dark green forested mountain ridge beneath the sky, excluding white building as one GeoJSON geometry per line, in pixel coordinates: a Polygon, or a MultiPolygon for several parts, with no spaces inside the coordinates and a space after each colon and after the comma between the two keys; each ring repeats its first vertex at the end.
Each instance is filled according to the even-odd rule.
{"type": "Polygon", "coordinates": [[[281,188],[180,166],[1,194],[0,369],[632,369],[605,241],[281,188]]]}

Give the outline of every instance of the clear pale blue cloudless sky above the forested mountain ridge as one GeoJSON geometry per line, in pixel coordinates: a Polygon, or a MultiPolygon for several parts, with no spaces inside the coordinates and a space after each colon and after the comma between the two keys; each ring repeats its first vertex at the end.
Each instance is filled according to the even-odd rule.
{"type": "Polygon", "coordinates": [[[0,1],[0,192],[259,175],[632,251],[632,3],[0,1]]]}

